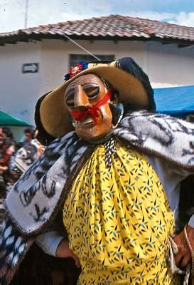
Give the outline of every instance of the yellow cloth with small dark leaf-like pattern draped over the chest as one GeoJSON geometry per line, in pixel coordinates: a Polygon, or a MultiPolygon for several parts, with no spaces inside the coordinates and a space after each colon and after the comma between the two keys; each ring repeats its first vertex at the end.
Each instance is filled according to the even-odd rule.
{"type": "Polygon", "coordinates": [[[176,284],[167,264],[173,213],[144,155],[117,142],[107,169],[97,146],[72,185],[63,222],[82,265],[79,284],[176,284]]]}

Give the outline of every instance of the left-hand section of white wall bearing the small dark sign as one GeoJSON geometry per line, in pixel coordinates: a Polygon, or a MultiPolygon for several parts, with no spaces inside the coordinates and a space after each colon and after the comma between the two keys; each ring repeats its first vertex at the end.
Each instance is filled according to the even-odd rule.
{"type": "Polygon", "coordinates": [[[40,73],[22,73],[22,64],[39,63],[40,54],[40,43],[0,47],[0,108],[28,123],[33,123],[32,106],[41,78],[40,73]]]}

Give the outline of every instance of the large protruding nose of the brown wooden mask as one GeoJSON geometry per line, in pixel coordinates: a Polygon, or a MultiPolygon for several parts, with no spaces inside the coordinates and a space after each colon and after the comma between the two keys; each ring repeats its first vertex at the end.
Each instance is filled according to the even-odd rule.
{"type": "Polygon", "coordinates": [[[92,107],[81,85],[75,87],[74,106],[78,110],[87,110],[92,107]]]}

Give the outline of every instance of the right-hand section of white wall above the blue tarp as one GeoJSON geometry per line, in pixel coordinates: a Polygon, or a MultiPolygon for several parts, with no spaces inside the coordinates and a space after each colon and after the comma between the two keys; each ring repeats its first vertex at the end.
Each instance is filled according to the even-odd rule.
{"type": "Polygon", "coordinates": [[[147,43],[146,72],[153,88],[194,85],[194,46],[147,43]]]}

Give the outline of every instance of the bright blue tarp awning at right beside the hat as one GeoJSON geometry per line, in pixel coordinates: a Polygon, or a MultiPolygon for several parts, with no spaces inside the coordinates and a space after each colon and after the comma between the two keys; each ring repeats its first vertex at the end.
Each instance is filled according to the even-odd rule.
{"type": "Polygon", "coordinates": [[[180,86],[154,89],[158,113],[186,115],[194,113],[194,86],[180,86]]]}

